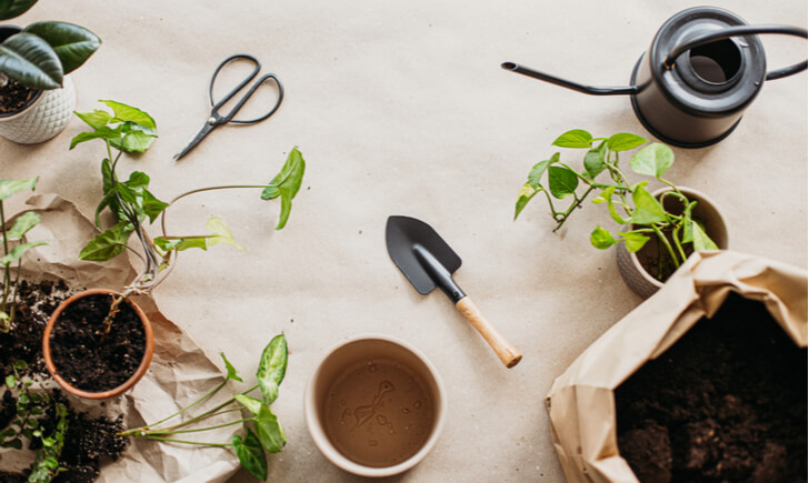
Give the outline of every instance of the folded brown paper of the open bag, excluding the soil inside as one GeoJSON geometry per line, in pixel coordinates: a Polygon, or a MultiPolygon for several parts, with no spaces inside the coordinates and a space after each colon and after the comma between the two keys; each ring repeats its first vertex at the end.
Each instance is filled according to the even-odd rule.
{"type": "MultiPolygon", "coordinates": [[[[788,335],[783,338],[787,346],[790,340],[798,348],[807,346],[806,272],[735,252],[692,255],[656,295],[607,331],[553,382],[547,406],[553,444],[569,481],[638,481],[619,454],[613,392],[700,319],[713,316],[732,292],[762,302],[762,313],[769,312],[788,335]]],[[[778,326],[766,322],[782,335],[778,326]]]]}

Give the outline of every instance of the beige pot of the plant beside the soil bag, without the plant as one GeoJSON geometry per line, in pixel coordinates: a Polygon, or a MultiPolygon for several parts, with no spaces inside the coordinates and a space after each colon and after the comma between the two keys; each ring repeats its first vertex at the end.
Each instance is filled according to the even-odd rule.
{"type": "MultiPolygon", "coordinates": [[[[693,217],[705,221],[708,237],[713,240],[720,250],[727,250],[728,229],[725,225],[725,219],[717,209],[716,203],[700,191],[691,188],[678,187],[678,189],[688,197],[689,200],[697,201],[697,207],[695,207],[693,210],[693,217]]],[[[671,188],[667,187],[657,190],[652,193],[652,195],[655,198],[659,198],[667,191],[671,191],[671,188]]],[[[629,230],[629,228],[627,228],[627,230],[629,230]]],[[[663,282],[649,274],[638,256],[639,254],[649,254],[652,250],[657,253],[657,245],[652,243],[652,241],[653,240],[650,240],[639,252],[631,253],[627,250],[623,243],[619,243],[616,251],[618,270],[621,272],[621,278],[623,278],[623,281],[630,289],[632,289],[632,291],[635,291],[635,293],[643,299],[648,299],[653,295],[655,292],[663,286],[663,282]]]]}

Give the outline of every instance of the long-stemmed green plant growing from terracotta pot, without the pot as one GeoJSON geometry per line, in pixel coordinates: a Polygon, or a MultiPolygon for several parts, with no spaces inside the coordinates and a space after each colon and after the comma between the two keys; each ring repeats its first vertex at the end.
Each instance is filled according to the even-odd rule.
{"type": "MultiPolygon", "coordinates": [[[[166,210],[182,198],[206,191],[260,189],[263,200],[281,199],[281,214],[276,229],[281,230],[287,224],[292,199],[300,190],[306,170],[306,162],[298,148],[290,151],[281,171],[269,183],[200,188],[182,193],[166,203],[148,190],[150,179],[146,173],[134,171],[126,181],[119,180],[116,173],[124,152],[142,153],[149,149],[157,138],[154,120],[148,113],[131,105],[114,101],[101,102],[107,104],[112,113],[103,110],[77,112],[76,114],[93,130],[73,138],[70,149],[92,139],[104,141],[107,158],[101,162],[103,198],[96,210],[96,224],[101,228],[100,215],[104,210],[112,213],[116,224],[93,238],[81,251],[79,258],[90,261],[110,260],[128,248],[129,238],[134,233],[142,249],[139,256],[143,261],[143,271],[126,288],[124,295],[148,293],[154,289],[169,273],[169,269],[180,251],[194,248],[207,250],[208,246],[218,243],[230,244],[242,250],[242,246],[233,239],[228,225],[218,217],[211,218],[206,223],[206,228],[210,230],[208,234],[174,235],[167,233],[166,210]],[[113,150],[117,151],[116,155],[113,155],[113,150]],[[153,223],[158,218],[161,220],[162,234],[152,239],[146,232],[144,224],[147,220],[149,223],[153,223]]],[[[119,303],[120,301],[112,306],[110,320],[111,316],[114,316],[119,303]]]]}

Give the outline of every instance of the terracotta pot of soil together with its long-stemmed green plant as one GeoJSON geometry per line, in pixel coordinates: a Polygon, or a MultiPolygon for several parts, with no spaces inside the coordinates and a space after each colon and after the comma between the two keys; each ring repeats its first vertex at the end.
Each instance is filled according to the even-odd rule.
{"type": "Polygon", "coordinates": [[[43,338],[46,364],[54,380],[67,391],[92,399],[127,391],[149,365],[153,346],[151,328],[130,295],[148,294],[157,288],[171,272],[181,251],[208,250],[220,243],[243,250],[219,217],[212,217],[204,224],[209,230],[207,234],[169,232],[167,209],[194,193],[260,189],[264,200],[280,198],[281,214],[276,229],[281,230],[289,219],[292,199],[300,189],[306,169],[303,157],[294,148],[281,171],[268,183],[200,188],[163,202],[149,191],[150,179],[146,173],[133,171],[126,181],[118,177],[123,153],[144,152],[151,145],[157,137],[154,120],[140,109],[114,101],[102,102],[111,113],[106,110],[77,113],[92,130],[73,138],[71,149],[93,139],[104,142],[103,198],[96,210],[96,223],[101,228],[101,214],[107,211],[112,215],[113,224],[90,240],[79,258],[97,262],[111,260],[130,249],[128,243],[134,235],[138,249],[130,250],[141,259],[142,270],[122,292],[96,289],[66,300],[51,315],[43,338]],[[147,232],[147,225],[158,219],[161,234],[152,237],[147,232]]]}

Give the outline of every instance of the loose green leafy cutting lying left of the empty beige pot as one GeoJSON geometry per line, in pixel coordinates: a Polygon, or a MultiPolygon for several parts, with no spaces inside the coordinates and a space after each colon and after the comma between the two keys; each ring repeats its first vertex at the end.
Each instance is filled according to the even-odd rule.
{"type": "Polygon", "coordinates": [[[153,441],[164,441],[180,444],[192,444],[197,446],[209,447],[232,447],[239,457],[241,465],[247,469],[250,474],[264,481],[267,480],[267,455],[269,453],[278,453],[283,450],[287,444],[287,436],[283,427],[278,421],[278,416],[270,409],[270,404],[278,398],[278,386],[283,381],[287,373],[287,339],[283,334],[276,335],[261,353],[259,369],[256,373],[257,384],[247,391],[242,391],[221,404],[200,413],[199,415],[189,417],[182,422],[167,425],[171,420],[178,417],[192,407],[202,404],[217,394],[228,381],[243,382],[233,365],[222,353],[224,361],[224,381],[219,383],[210,392],[203,394],[197,401],[190,403],[180,411],[164,417],[156,423],[147,424],[140,427],[122,431],[118,433],[120,436],[143,437],[153,441]],[[261,391],[261,399],[256,399],[249,394],[256,390],[261,391]],[[234,411],[248,410],[252,416],[231,421],[229,423],[216,424],[212,426],[200,427],[200,422],[206,419],[234,411]],[[231,442],[200,442],[184,440],[186,434],[199,433],[203,431],[216,430],[219,427],[243,425],[244,435],[234,435],[231,442]],[[251,427],[252,426],[252,427],[251,427]],[[177,435],[180,435],[177,437],[177,435]]]}

